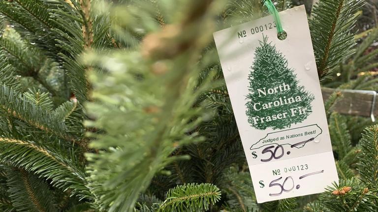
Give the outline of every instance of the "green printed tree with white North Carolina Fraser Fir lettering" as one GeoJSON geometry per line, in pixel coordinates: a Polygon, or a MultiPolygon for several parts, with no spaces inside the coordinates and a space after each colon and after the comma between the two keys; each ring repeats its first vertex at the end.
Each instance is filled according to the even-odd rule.
{"type": "Polygon", "coordinates": [[[263,41],[256,48],[249,74],[250,92],[247,95],[246,114],[252,127],[260,130],[269,127],[284,129],[304,121],[311,114],[314,95],[298,85],[293,71],[287,67],[284,55],[268,43],[267,36],[263,36],[263,41]],[[291,112],[292,108],[295,109],[295,115],[291,112]],[[305,112],[300,114],[299,111],[305,112]],[[285,112],[285,115],[277,117],[277,114],[285,112]]]}

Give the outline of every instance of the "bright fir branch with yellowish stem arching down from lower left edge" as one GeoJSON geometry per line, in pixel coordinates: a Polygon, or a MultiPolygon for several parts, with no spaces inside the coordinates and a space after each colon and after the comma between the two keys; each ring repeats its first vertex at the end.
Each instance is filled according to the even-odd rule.
{"type": "Polygon", "coordinates": [[[0,162],[10,163],[51,179],[53,185],[71,189],[72,194],[81,198],[93,198],[85,186],[83,171],[63,159],[62,154],[53,153],[31,141],[12,138],[0,138],[0,149],[0,162]]]}

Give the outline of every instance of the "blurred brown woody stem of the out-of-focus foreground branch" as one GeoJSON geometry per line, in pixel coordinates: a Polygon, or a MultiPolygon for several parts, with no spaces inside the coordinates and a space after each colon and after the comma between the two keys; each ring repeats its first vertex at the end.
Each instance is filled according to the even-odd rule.
{"type": "MultiPolygon", "coordinates": [[[[152,33],[147,35],[142,43],[142,55],[148,59],[159,60],[162,58],[172,59],[178,57],[180,54],[185,53],[189,48],[195,48],[193,43],[198,43],[197,36],[189,36],[187,39],[181,39],[185,34],[192,29],[193,25],[200,24],[200,18],[205,16],[209,4],[212,0],[195,0],[194,3],[191,3],[191,8],[189,9],[188,18],[184,20],[181,25],[170,25],[164,27],[164,29],[157,33],[152,33]],[[158,43],[155,43],[158,42],[158,43]],[[171,51],[172,50],[172,51],[171,51]]],[[[198,31],[198,33],[202,33],[198,31]]],[[[195,50],[195,49],[193,49],[195,50]]],[[[196,51],[193,51],[196,52],[196,51]]],[[[191,53],[192,54],[192,53],[191,53]]],[[[168,115],[168,111],[172,111],[174,104],[178,99],[180,99],[181,93],[185,90],[188,83],[188,74],[191,71],[189,66],[193,64],[194,54],[191,55],[191,58],[187,60],[187,64],[183,64],[183,71],[177,77],[172,78],[166,83],[166,86],[173,92],[166,97],[166,103],[162,106],[161,111],[165,111],[161,114],[161,120],[172,120],[175,117],[168,115]],[[187,67],[186,67],[187,66],[187,67]]],[[[170,114],[170,112],[169,112],[170,114]]],[[[162,126],[158,129],[157,136],[154,139],[154,146],[159,146],[165,132],[167,131],[168,123],[165,126],[162,126]]],[[[158,154],[158,149],[153,148],[151,150],[152,158],[156,157],[158,154]]]]}

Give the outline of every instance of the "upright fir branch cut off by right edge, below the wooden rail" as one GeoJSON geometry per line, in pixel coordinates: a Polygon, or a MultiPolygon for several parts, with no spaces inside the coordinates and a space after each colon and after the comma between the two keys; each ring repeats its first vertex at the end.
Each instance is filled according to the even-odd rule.
{"type": "Polygon", "coordinates": [[[360,140],[362,155],[358,171],[362,180],[378,188],[378,125],[365,129],[360,140]]]}

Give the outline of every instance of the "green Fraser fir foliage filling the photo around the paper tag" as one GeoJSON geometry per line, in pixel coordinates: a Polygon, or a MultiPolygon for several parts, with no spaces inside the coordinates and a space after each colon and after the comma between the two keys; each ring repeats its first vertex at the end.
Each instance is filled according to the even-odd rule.
{"type": "MultiPolygon", "coordinates": [[[[368,73],[378,52],[366,53],[377,30],[361,32],[358,46],[353,37],[363,2],[313,8],[324,85],[377,89],[368,73]]],[[[337,92],[325,106],[339,184],[256,203],[212,33],[266,15],[262,5],[0,0],[0,211],[377,211],[378,128],[356,145],[372,123],[332,112],[337,92]]],[[[262,46],[282,61],[277,71],[289,69],[274,46],[262,46]]],[[[308,106],[311,94],[290,83],[308,106]]]]}

